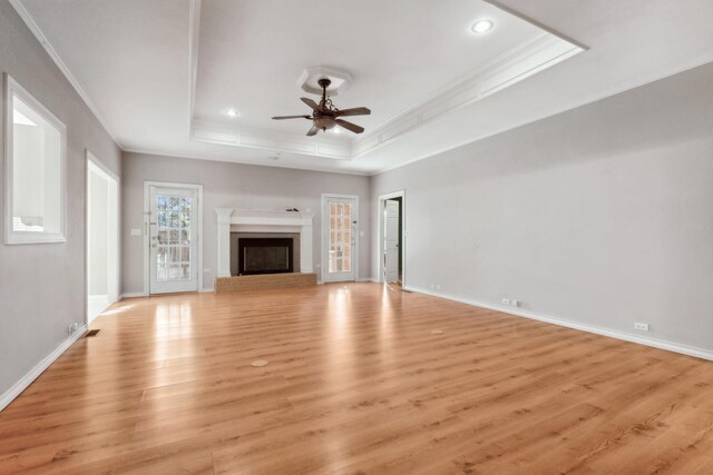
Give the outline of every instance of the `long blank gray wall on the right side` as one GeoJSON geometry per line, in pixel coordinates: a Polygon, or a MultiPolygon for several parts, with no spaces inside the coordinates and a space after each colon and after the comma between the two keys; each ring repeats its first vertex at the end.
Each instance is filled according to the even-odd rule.
{"type": "Polygon", "coordinates": [[[374,204],[407,190],[407,285],[713,349],[711,85],[713,63],[375,176],[374,204]]]}

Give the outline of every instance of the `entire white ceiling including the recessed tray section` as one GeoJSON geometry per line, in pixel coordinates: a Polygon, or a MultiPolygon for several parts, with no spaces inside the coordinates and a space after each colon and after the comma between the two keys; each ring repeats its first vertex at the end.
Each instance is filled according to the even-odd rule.
{"type": "Polygon", "coordinates": [[[11,1],[124,149],[294,168],[378,172],[713,60],[709,0],[11,1]],[[270,120],[320,65],[363,136],[270,120]]]}

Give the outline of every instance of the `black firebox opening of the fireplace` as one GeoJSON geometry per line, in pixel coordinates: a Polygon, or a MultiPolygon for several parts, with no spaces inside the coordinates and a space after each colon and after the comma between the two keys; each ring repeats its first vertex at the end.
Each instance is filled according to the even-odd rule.
{"type": "Polygon", "coordinates": [[[237,240],[237,274],[293,273],[293,238],[241,237],[237,240]]]}

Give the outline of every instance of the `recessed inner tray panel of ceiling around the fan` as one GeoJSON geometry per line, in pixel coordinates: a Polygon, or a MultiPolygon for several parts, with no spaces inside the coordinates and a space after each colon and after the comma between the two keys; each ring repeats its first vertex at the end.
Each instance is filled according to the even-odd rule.
{"type": "Polygon", "coordinates": [[[353,77],[334,102],[370,107],[353,121],[373,129],[538,32],[472,0],[211,0],[201,10],[195,118],[304,135],[309,122],[271,117],[307,113],[299,98],[313,96],[297,79],[325,65],[353,77]],[[476,18],[498,28],[476,36],[476,18]],[[225,116],[229,107],[240,119],[225,116]]]}

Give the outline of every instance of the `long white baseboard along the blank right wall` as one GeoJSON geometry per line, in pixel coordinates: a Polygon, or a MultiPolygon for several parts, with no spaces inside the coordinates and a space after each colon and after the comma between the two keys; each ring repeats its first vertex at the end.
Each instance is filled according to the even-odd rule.
{"type": "Polygon", "coordinates": [[[472,305],[475,307],[488,308],[490,310],[501,311],[504,314],[515,315],[517,317],[529,318],[533,320],[544,321],[547,324],[558,325],[561,327],[574,328],[582,331],[588,331],[596,335],[608,336],[611,338],[622,339],[625,342],[637,343],[639,345],[652,346],[654,348],[666,349],[668,352],[681,353],[683,355],[694,356],[696,358],[710,359],[713,360],[713,350],[696,348],[694,346],[682,345],[678,343],[665,342],[662,339],[644,337],[639,335],[632,335],[625,331],[613,330],[608,328],[602,328],[594,325],[580,324],[577,321],[567,320],[565,318],[555,317],[551,315],[537,314],[534,311],[522,310],[522,309],[514,309],[512,307],[506,307],[497,304],[489,304],[485,301],[477,301],[471,299],[466,299],[461,297],[456,297],[452,295],[440,294],[427,289],[422,289],[419,287],[408,286],[404,287],[406,290],[416,291],[418,294],[426,294],[432,297],[440,297],[447,300],[453,300],[461,304],[472,305]]]}

